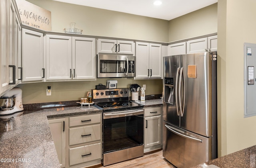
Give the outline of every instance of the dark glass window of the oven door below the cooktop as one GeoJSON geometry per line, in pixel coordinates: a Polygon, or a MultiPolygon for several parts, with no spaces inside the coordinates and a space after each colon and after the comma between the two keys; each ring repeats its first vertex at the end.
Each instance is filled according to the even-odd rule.
{"type": "Polygon", "coordinates": [[[143,114],[104,119],[103,153],[143,145],[143,114]]]}

